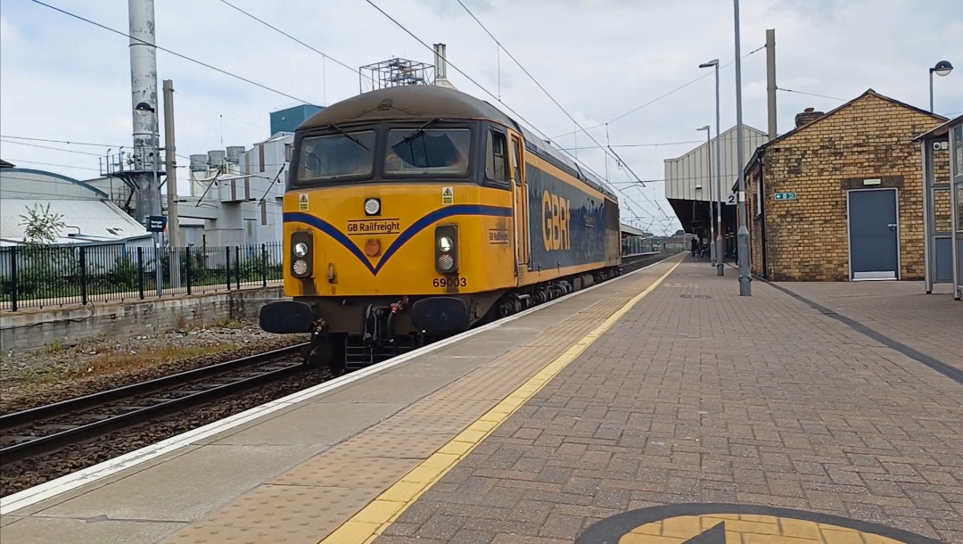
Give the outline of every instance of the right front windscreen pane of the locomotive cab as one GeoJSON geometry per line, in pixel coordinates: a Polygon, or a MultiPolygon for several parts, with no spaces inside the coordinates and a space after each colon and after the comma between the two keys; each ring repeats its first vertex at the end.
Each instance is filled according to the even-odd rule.
{"type": "Polygon", "coordinates": [[[388,175],[464,175],[472,133],[467,128],[392,129],[388,131],[384,173],[388,175]]]}

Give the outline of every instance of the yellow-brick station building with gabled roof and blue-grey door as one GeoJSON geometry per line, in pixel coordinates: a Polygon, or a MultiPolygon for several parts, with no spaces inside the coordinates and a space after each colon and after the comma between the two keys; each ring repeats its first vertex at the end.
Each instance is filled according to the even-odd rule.
{"type": "MultiPolygon", "coordinates": [[[[776,281],[924,278],[923,155],[945,122],[866,91],[755,149],[745,168],[752,272],[776,281]]],[[[751,151],[750,151],[751,152],[751,151]]],[[[949,152],[933,153],[949,180],[949,152]]],[[[950,194],[935,202],[950,230],[950,194]]]]}

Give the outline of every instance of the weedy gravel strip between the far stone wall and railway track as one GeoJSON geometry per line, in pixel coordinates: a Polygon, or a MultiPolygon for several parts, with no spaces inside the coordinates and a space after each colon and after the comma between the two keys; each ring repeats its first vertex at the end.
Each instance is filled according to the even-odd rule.
{"type": "Polygon", "coordinates": [[[236,322],[151,337],[4,353],[0,360],[0,413],[65,401],[309,339],[306,334],[270,334],[257,325],[236,322]]]}

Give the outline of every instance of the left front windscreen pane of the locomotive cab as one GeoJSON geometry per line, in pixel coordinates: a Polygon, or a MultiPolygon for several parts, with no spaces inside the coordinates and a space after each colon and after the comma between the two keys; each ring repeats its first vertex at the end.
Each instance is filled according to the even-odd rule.
{"type": "Polygon", "coordinates": [[[375,164],[375,131],[367,130],[300,141],[298,181],[367,177],[375,164]]]}

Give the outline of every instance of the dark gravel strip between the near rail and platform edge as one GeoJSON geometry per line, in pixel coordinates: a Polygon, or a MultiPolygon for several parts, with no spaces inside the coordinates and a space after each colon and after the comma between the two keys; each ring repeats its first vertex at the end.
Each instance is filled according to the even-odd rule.
{"type": "Polygon", "coordinates": [[[0,465],[0,497],[133,452],[259,404],[296,393],[332,377],[334,376],[327,369],[310,369],[271,385],[196,406],[189,413],[173,414],[142,426],[118,430],[84,444],[74,444],[59,452],[0,465]]]}

